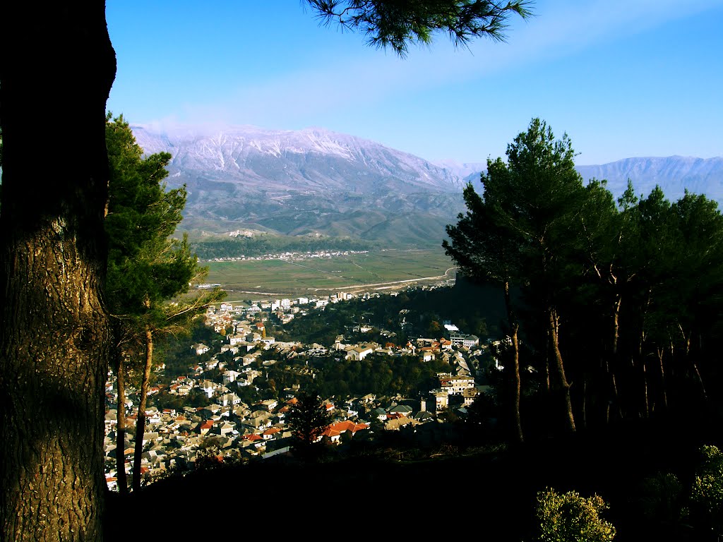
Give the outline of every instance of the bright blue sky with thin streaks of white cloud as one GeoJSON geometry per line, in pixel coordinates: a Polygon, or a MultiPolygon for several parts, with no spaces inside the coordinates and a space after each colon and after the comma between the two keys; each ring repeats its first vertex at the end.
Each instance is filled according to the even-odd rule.
{"type": "Polygon", "coordinates": [[[427,160],[504,158],[534,117],[576,162],[723,155],[723,0],[537,0],[506,43],[406,59],[299,0],[106,0],[132,124],[319,126],[427,160]]]}

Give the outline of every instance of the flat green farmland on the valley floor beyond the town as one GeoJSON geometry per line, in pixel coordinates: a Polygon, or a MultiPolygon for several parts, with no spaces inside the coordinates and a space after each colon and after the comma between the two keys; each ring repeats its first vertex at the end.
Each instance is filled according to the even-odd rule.
{"type": "Polygon", "coordinates": [[[254,293],[254,297],[295,297],[338,291],[388,291],[455,278],[455,267],[441,248],[203,264],[209,267],[208,282],[221,284],[232,296],[254,293]]]}

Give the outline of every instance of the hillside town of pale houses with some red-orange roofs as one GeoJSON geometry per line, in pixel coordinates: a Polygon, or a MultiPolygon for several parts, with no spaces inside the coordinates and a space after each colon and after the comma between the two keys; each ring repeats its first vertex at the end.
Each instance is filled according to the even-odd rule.
{"type": "MultiPolygon", "coordinates": [[[[369,298],[370,295],[379,294],[362,294],[361,298],[369,298]]],[[[338,446],[349,439],[374,439],[381,431],[417,431],[426,424],[437,426],[438,430],[447,419],[445,414],[454,411],[457,416],[463,416],[477,395],[489,392],[489,385],[482,376],[483,369],[489,364],[494,366],[496,362],[489,356],[488,346],[480,345],[478,337],[464,334],[450,322],[445,323],[444,337],[416,337],[402,346],[374,342],[344,343],[343,336],[337,337],[331,345],[320,345],[275,340],[266,333],[264,322],[258,318],[260,313],[273,314],[278,322],[288,322],[314,309],[323,309],[328,304],[351,297],[353,295],[349,293],[338,293],[323,298],[285,298],[210,306],[204,317],[205,326],[225,337],[223,344],[213,351],[210,345],[189,342],[188,348],[194,356],[205,361],[189,366],[187,374],[176,377],[168,389],[163,390],[180,398],[202,392],[208,404],[146,409],[141,459],[144,483],[151,483],[172,472],[193,470],[200,458],[250,461],[288,454],[291,431],[285,416],[296,401],[299,386],[283,390],[278,399],[253,404],[244,403],[240,397],[244,395],[242,390],[254,387],[254,381],[264,378],[265,368],[281,361],[293,358],[296,361],[309,360],[333,353],[334,359],[360,361],[372,355],[416,356],[422,362],[436,359],[448,364],[447,371],[437,374],[436,387],[418,397],[377,397],[369,394],[326,398],[324,405],[333,421],[321,438],[329,446],[338,446]],[[228,360],[229,353],[234,359],[233,366],[238,370],[226,366],[224,360],[228,360]]],[[[354,332],[362,334],[370,330],[371,327],[365,325],[354,327],[354,332]]],[[[295,365],[294,370],[308,374],[317,371],[309,366],[308,361],[295,365]]],[[[163,364],[155,371],[162,373],[163,364]]],[[[158,385],[151,387],[149,395],[160,393],[161,388],[158,385]]],[[[137,394],[127,394],[121,407],[115,376],[109,374],[106,404],[106,481],[109,489],[117,491],[118,408],[124,408],[127,423],[122,453],[130,475],[135,447],[137,394]]],[[[427,428],[432,429],[432,426],[427,428]]]]}

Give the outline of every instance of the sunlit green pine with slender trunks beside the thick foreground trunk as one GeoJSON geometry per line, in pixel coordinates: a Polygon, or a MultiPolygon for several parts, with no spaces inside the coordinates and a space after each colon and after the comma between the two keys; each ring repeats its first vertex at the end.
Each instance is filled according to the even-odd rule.
{"type": "Polygon", "coordinates": [[[145,432],[145,407],[153,366],[154,337],[185,332],[205,307],[223,293],[187,295],[208,269],[200,267],[188,239],[174,238],[186,204],[185,187],[168,190],[164,178],[171,155],[143,156],[123,116],[107,117],[106,140],[111,165],[108,231],[108,305],[116,337],[116,377],[119,382],[119,491],[124,491],[124,381],[126,362],[140,372],[140,405],[136,420],[133,489],[140,489],[140,460],[145,432]],[[171,303],[170,301],[173,300],[171,303]]]}

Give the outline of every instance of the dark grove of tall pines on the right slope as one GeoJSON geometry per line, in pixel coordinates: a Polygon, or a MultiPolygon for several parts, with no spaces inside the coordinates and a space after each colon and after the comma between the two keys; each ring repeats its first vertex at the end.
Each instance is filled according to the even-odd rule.
{"type": "Polygon", "coordinates": [[[526,345],[520,366],[544,375],[521,406],[525,430],[708,412],[723,329],[716,202],[637,197],[630,182],[616,203],[604,181],[583,184],[567,134],[539,119],[507,155],[488,160],[482,196],[466,187],[444,246],[471,278],[520,294],[507,327],[526,345]]]}

